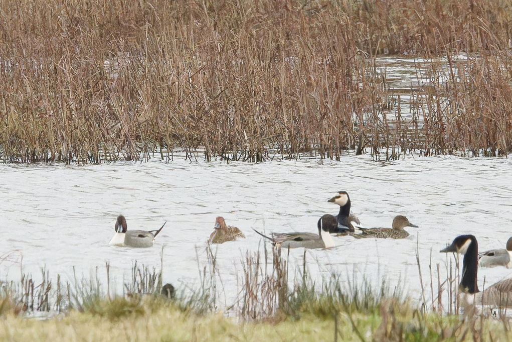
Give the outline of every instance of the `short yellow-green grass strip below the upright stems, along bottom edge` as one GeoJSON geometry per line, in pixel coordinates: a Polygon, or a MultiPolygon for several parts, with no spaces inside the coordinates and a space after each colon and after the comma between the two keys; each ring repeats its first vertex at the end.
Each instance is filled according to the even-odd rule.
{"type": "MultiPolygon", "coordinates": [[[[327,298],[324,298],[327,299],[327,298]]],[[[0,341],[496,341],[508,340],[503,321],[463,321],[458,316],[426,316],[407,304],[383,300],[379,310],[318,314],[306,305],[301,317],[282,312],[266,320],[240,321],[220,313],[183,311],[172,301],[145,296],[100,301],[101,310],[69,311],[48,320],[4,314],[0,341]],[[119,314],[121,308],[124,314],[119,314]]]]}

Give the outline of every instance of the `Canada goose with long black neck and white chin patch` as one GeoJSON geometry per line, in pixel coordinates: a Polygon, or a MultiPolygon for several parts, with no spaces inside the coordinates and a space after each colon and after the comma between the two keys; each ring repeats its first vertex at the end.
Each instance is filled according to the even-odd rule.
{"type": "Polygon", "coordinates": [[[512,279],[498,281],[483,292],[478,289],[478,242],[474,235],[457,236],[452,245],[440,252],[464,254],[459,285],[463,305],[493,305],[502,308],[512,306],[512,279]]]}

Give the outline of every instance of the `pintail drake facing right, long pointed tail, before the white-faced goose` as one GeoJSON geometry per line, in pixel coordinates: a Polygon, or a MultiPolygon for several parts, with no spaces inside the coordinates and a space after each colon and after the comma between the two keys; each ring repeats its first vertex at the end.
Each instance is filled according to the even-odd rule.
{"type": "Polygon", "coordinates": [[[281,248],[332,248],[334,240],[329,233],[329,227],[324,227],[321,223],[318,228],[318,234],[314,233],[272,233],[272,237],[263,235],[259,231],[253,229],[261,236],[272,241],[275,247],[281,248]]]}

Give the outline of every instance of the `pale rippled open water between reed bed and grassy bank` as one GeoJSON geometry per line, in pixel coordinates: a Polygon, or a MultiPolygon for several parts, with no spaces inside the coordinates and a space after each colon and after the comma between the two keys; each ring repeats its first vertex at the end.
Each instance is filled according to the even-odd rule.
{"type": "MultiPolygon", "coordinates": [[[[208,264],[206,240],[215,218],[223,216],[246,235],[213,247],[222,284],[219,309],[224,310],[240,295],[247,251],[263,249],[252,228],[315,232],[319,216],[337,213],[339,207],[327,199],[338,190],[350,194],[352,212],[364,226],[390,227],[393,217],[403,214],[419,228],[408,228],[411,236],[403,240],[334,237],[339,247],[306,252],[316,279],[336,273],[347,281],[356,274],[377,287],[386,279],[419,298],[418,250],[430,297],[429,264],[444,269],[447,256],[439,250],[454,237],[475,234],[483,251],[504,248],[512,235],[511,159],[407,156],[381,163],[362,155],[319,164],[307,158],[190,163],[178,155],[170,163],[0,165],[0,254],[18,251],[0,263],[0,279],[18,279],[21,262],[23,272],[34,278],[46,267],[51,278],[60,274],[73,283],[74,267],[79,276],[97,273],[104,280],[107,261],[119,289],[136,261],[159,269],[163,248],[164,283],[193,288],[199,284],[199,269],[208,264]],[[118,214],[125,215],[128,229],[167,224],[153,248],[109,247],[118,214]]],[[[302,267],[303,254],[303,249],[291,250],[292,273],[302,267]]],[[[485,284],[493,284],[510,273],[481,269],[479,286],[484,276],[485,284]]],[[[433,277],[437,284],[435,272],[433,277]]]]}

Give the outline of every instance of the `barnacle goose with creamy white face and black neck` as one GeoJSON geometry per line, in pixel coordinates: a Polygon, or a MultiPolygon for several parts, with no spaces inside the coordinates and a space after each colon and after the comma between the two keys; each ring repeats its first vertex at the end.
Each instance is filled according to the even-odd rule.
{"type": "Polygon", "coordinates": [[[359,219],[350,214],[350,197],[346,191],[338,191],[327,202],[335,203],[339,206],[339,212],[336,216],[325,214],[318,219],[317,227],[327,226],[330,233],[354,232],[354,224],[360,225],[359,219]]]}

